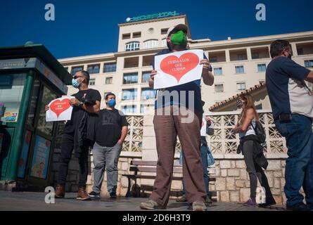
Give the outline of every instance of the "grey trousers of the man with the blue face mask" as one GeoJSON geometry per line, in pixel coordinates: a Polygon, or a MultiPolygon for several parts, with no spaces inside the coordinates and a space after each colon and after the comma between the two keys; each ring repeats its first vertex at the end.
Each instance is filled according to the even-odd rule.
{"type": "Polygon", "coordinates": [[[116,192],[117,187],[117,162],[120,157],[122,145],[116,143],[113,147],[103,147],[94,143],[92,153],[94,155],[94,186],[92,191],[101,193],[104,170],[107,175],[108,192],[116,192]]]}

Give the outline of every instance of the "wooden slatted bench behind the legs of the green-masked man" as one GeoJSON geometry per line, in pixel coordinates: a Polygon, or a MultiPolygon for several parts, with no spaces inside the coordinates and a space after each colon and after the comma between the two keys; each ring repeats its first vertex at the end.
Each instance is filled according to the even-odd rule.
{"type": "MultiPolygon", "coordinates": [[[[127,188],[127,193],[126,197],[138,197],[139,191],[136,190],[138,188],[137,185],[137,179],[153,179],[155,180],[155,173],[156,173],[156,166],[157,166],[157,161],[143,161],[143,160],[132,160],[130,167],[129,167],[129,172],[132,172],[133,174],[122,174],[122,176],[126,176],[128,179],[128,188],[127,188]],[[142,174],[144,173],[144,174],[142,174]],[[134,188],[135,188],[135,194],[131,194],[131,186],[132,186],[132,180],[134,181],[134,188]]],[[[208,167],[208,173],[210,176],[210,181],[215,181],[215,166],[208,167]]],[[[174,165],[173,168],[173,176],[172,176],[173,181],[182,181],[183,180],[183,169],[181,165],[174,165]]],[[[141,185],[141,188],[143,185],[141,185]]],[[[146,185],[145,185],[146,187],[146,185]]],[[[152,188],[151,188],[152,191],[152,188]]],[[[212,194],[212,192],[211,192],[212,194]]],[[[216,195],[216,193],[212,194],[216,195]]]]}

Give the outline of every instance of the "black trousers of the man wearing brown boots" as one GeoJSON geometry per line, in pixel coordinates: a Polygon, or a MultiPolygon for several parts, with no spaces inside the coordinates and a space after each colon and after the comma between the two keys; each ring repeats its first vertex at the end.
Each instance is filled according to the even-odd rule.
{"type": "MultiPolygon", "coordinates": [[[[68,164],[72,157],[74,148],[74,133],[63,134],[61,143],[61,154],[59,160],[58,179],[57,182],[61,186],[65,186],[66,176],[68,176],[68,164]]],[[[78,158],[79,162],[79,188],[86,188],[88,176],[88,155],[89,142],[86,141],[81,149],[81,154],[78,158]]]]}

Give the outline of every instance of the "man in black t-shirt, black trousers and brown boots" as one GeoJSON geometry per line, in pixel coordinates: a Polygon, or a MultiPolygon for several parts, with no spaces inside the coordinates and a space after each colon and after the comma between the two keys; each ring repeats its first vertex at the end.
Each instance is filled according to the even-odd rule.
{"type": "MultiPolygon", "coordinates": [[[[79,89],[75,96],[70,100],[70,104],[73,106],[72,117],[65,124],[65,129],[63,131],[62,143],[61,143],[61,153],[60,153],[60,165],[58,170],[58,179],[56,185],[56,198],[64,198],[65,196],[65,181],[68,175],[68,164],[72,156],[72,150],[74,148],[79,148],[79,184],[77,199],[79,200],[90,200],[91,198],[86,192],[86,182],[88,175],[88,155],[89,147],[92,146],[93,142],[89,139],[89,130],[94,130],[93,127],[87,128],[86,137],[82,138],[82,134],[78,132],[82,129],[82,123],[86,126],[90,125],[90,122],[83,121],[86,119],[86,113],[88,116],[93,116],[100,111],[101,95],[99,91],[94,89],[89,89],[89,73],[82,70],[75,73],[72,79],[72,86],[79,89]],[[77,138],[77,136],[80,136],[77,138]],[[82,143],[78,143],[82,140],[82,143]]],[[[49,106],[46,105],[46,110],[49,110],[49,106]]],[[[80,133],[80,132],[79,132],[80,133]]]]}

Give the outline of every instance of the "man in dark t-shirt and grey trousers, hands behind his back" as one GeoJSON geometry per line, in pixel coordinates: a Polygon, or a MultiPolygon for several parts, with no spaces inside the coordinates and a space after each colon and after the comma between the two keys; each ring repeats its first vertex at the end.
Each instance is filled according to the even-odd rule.
{"type": "Polygon", "coordinates": [[[117,198],[117,162],[127,135],[127,120],[122,112],[115,109],[115,94],[106,95],[106,108],[100,110],[96,122],[96,143],[94,155],[94,186],[89,196],[100,198],[103,174],[106,168],[107,187],[110,198],[117,198]]]}

